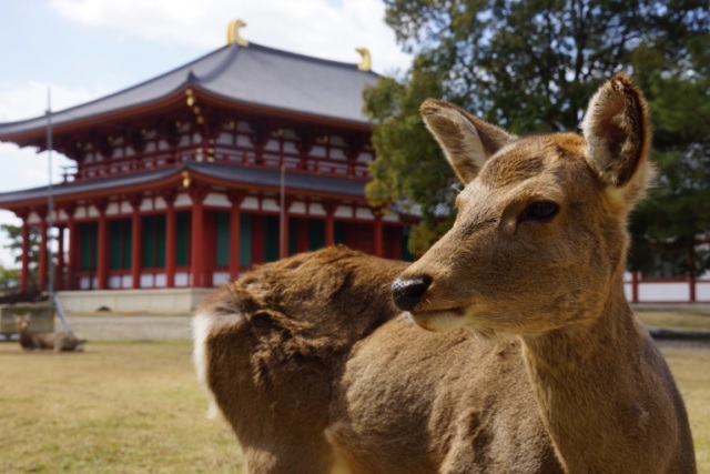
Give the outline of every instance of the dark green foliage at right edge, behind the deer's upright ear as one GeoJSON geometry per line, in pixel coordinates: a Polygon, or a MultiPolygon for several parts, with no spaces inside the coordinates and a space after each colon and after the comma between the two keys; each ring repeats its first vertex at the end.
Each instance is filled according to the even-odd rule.
{"type": "Polygon", "coordinates": [[[681,255],[676,274],[694,276],[710,269],[707,250],[696,245],[698,236],[710,238],[710,31],[678,42],[682,54],[674,63],[667,63],[662,48],[639,48],[635,54],[636,63],[653,65],[639,82],[653,118],[652,155],[660,174],[633,216],[630,263],[648,271],[661,251],[681,255]]]}

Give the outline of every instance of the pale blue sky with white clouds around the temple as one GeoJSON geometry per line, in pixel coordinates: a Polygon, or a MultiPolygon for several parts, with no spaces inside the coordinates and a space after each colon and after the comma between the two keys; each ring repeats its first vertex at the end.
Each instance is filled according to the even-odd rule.
{"type": "MultiPolygon", "coordinates": [[[[382,0],[0,0],[0,123],[113,93],[226,42],[242,19],[247,41],[356,63],[394,75],[410,58],[384,22],[382,0]]],[[[73,162],[52,153],[52,181],[73,162]]],[[[47,185],[48,153],[0,142],[0,192],[47,185]]],[[[0,223],[20,220],[0,211],[0,223]]],[[[0,265],[17,266],[0,233],[0,265]]]]}

